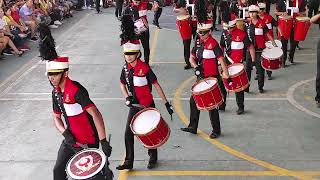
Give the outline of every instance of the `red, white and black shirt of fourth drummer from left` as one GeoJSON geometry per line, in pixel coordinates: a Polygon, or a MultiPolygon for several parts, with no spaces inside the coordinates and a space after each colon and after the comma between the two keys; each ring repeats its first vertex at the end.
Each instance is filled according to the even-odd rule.
{"type": "Polygon", "coordinates": [[[242,63],[246,49],[252,46],[247,34],[234,28],[232,31],[222,32],[220,46],[225,50],[234,63],[242,63]]]}

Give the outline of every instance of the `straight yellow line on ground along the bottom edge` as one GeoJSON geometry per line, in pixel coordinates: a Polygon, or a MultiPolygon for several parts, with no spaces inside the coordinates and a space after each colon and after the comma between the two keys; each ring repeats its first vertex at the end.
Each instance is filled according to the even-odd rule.
{"type": "MultiPolygon", "coordinates": [[[[295,171],[297,174],[320,176],[320,171],[295,171]]],[[[129,176],[285,176],[276,171],[130,171],[129,176]]]]}

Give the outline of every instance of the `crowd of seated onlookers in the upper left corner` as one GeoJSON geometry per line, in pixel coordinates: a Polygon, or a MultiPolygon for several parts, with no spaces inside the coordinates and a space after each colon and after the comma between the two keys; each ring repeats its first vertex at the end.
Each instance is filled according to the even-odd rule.
{"type": "Polygon", "coordinates": [[[92,0],[0,0],[0,60],[30,50],[28,43],[37,42],[40,23],[58,28],[73,10],[92,7],[92,0]]]}

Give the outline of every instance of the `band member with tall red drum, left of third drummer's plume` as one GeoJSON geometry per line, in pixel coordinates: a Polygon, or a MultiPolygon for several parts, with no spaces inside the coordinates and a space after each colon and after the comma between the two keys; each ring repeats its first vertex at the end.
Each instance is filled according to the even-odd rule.
{"type": "Polygon", "coordinates": [[[183,42],[184,60],[186,66],[184,69],[190,69],[190,45],[192,36],[192,24],[188,10],[186,9],[186,1],[179,0],[175,2],[173,12],[177,13],[177,27],[183,42]]]}

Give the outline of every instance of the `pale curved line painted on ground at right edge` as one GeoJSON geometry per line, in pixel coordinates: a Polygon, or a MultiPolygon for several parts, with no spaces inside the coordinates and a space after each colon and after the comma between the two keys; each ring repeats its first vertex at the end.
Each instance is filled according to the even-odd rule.
{"type": "Polygon", "coordinates": [[[300,81],[300,82],[297,82],[296,84],[292,85],[289,90],[288,90],[288,93],[287,93],[287,99],[289,101],[289,103],[291,105],[293,105],[295,108],[299,109],[300,111],[306,113],[306,114],[309,114],[310,116],[313,116],[313,117],[316,117],[316,118],[320,118],[320,114],[318,113],[315,113],[313,111],[310,111],[309,109],[303,107],[301,104],[299,104],[295,99],[294,99],[294,92],[295,90],[306,84],[306,83],[309,83],[311,81],[315,81],[315,77],[311,78],[311,79],[307,79],[307,80],[303,80],[303,81],[300,81]]]}

